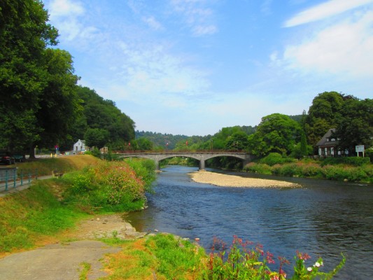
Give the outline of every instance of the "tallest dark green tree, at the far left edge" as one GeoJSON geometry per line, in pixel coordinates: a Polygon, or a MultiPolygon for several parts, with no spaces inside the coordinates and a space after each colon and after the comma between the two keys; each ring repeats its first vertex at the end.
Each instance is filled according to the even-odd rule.
{"type": "Polygon", "coordinates": [[[57,44],[43,3],[0,1],[0,146],[30,148],[40,139],[36,112],[45,87],[43,55],[57,44]]]}

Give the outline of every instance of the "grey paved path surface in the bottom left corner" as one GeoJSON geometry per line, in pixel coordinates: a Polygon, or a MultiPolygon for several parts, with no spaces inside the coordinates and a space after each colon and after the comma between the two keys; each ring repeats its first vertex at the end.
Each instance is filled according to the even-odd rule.
{"type": "Polygon", "coordinates": [[[0,259],[1,280],[78,280],[81,264],[91,265],[88,280],[106,276],[100,260],[106,253],[120,248],[101,241],[83,240],[69,244],[52,244],[36,250],[13,253],[0,259]]]}

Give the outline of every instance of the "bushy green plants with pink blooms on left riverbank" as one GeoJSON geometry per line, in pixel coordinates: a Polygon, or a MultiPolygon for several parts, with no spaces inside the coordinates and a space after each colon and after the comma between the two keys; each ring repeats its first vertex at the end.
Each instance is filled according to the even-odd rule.
{"type": "Polygon", "coordinates": [[[151,190],[155,180],[154,165],[150,161],[99,162],[82,172],[65,174],[70,188],[64,195],[66,203],[81,209],[101,207],[105,211],[132,211],[144,207],[145,191],[151,190]]]}

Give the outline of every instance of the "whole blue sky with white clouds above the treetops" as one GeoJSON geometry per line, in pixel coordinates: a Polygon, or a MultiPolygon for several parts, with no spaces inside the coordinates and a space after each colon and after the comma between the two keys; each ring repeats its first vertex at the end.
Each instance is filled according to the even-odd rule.
{"type": "Polygon", "coordinates": [[[136,130],[207,135],[373,97],[373,0],[44,0],[79,83],[136,130]]]}

